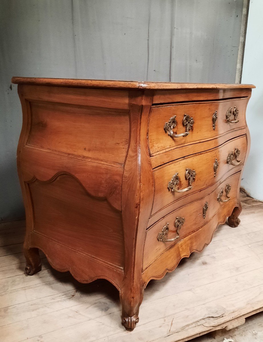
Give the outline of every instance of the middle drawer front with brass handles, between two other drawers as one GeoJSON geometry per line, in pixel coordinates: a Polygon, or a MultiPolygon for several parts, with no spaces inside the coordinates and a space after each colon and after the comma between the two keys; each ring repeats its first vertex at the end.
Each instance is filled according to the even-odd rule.
{"type": "Polygon", "coordinates": [[[155,194],[152,215],[170,203],[219,181],[242,165],[247,152],[247,136],[214,149],[176,160],[154,170],[155,194]]]}

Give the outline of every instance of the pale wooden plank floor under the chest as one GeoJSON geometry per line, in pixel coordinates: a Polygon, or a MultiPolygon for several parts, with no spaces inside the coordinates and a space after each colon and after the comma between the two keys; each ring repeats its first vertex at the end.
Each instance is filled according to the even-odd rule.
{"type": "Polygon", "coordinates": [[[42,271],[26,276],[24,222],[1,224],[0,340],[183,342],[263,310],[263,203],[242,195],[242,206],[237,228],[220,226],[202,253],[150,281],[133,332],[121,326],[119,294],[106,280],[80,284],[44,255],[42,271]]]}

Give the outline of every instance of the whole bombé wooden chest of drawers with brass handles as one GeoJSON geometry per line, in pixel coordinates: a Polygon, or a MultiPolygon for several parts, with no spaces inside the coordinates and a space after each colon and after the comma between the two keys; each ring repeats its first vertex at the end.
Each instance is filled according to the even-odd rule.
{"type": "MultiPolygon", "coordinates": [[[[26,273],[41,249],[81,282],[109,280],[134,329],[150,279],[239,224],[252,85],[12,79],[26,273]]],[[[157,308],[156,308],[157,310],[157,308]]]]}

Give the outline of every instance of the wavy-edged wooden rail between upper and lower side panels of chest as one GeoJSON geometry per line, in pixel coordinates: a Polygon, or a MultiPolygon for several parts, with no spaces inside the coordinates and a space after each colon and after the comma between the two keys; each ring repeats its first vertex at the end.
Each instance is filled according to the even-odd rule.
{"type": "Polygon", "coordinates": [[[90,195],[106,198],[111,206],[121,210],[123,167],[28,145],[21,149],[19,158],[26,182],[34,177],[48,181],[60,172],[74,174],[90,195]]]}

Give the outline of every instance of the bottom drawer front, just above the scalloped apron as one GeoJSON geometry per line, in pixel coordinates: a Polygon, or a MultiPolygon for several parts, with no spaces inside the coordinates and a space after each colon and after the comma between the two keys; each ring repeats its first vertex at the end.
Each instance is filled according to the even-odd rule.
{"type": "Polygon", "coordinates": [[[174,210],[152,225],[146,231],[143,268],[178,241],[205,225],[217,212],[230,210],[236,201],[239,177],[240,172],[228,177],[209,195],[202,197],[201,192],[202,198],[174,210]]]}

